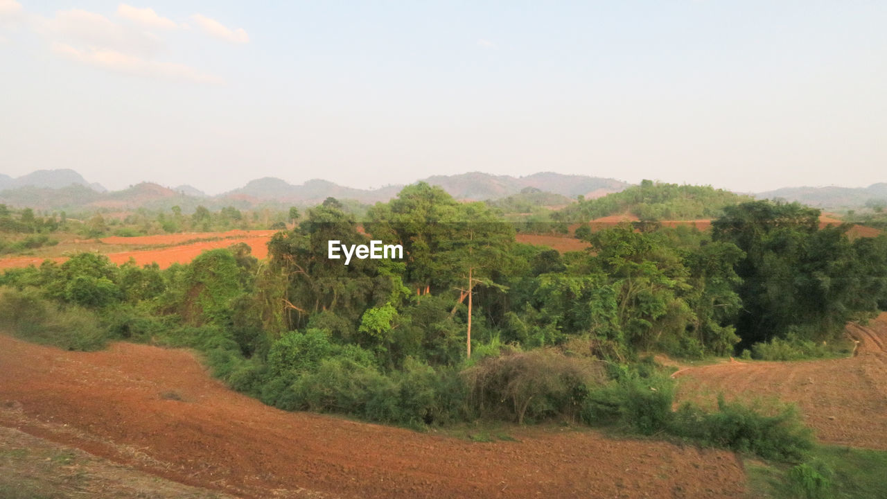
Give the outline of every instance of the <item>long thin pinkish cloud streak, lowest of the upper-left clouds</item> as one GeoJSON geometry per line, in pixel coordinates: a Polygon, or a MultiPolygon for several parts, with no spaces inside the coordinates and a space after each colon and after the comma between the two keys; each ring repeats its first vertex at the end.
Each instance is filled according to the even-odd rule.
{"type": "Polygon", "coordinates": [[[122,75],[146,76],[170,80],[187,80],[205,84],[223,84],[222,78],[203,73],[193,67],[174,62],[142,59],[138,56],[90,47],[81,50],[68,44],[52,44],[52,51],[71,60],[93,67],[100,67],[122,75]]]}

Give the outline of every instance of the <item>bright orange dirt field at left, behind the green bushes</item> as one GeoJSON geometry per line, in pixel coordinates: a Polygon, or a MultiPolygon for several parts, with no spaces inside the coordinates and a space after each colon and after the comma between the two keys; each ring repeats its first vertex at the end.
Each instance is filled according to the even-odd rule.
{"type": "MultiPolygon", "coordinates": [[[[97,251],[106,254],[117,265],[130,260],[136,260],[138,265],[147,265],[156,262],[161,268],[167,268],[172,264],[186,264],[194,257],[207,249],[227,248],[238,242],[245,242],[252,249],[254,257],[263,259],[268,256],[267,243],[271,235],[277,231],[229,231],[225,233],[186,233],[186,234],[162,234],[139,237],[106,237],[100,243],[93,241],[76,241],[75,251],[97,251]],[[200,241],[203,240],[203,241],[200,241]],[[188,242],[182,244],[182,242],[188,242]],[[132,250],[114,251],[109,249],[126,248],[135,246],[132,250]],[[138,248],[143,247],[143,248],[138,248]],[[146,248],[145,248],[146,247],[146,248]]],[[[70,245],[67,245],[70,246],[70,245]]],[[[67,248],[66,246],[66,248],[67,248]]],[[[59,253],[56,252],[56,255],[59,253]]],[[[67,257],[9,257],[0,259],[0,270],[4,268],[26,267],[27,265],[40,265],[44,259],[56,262],[64,262],[67,257]]]]}

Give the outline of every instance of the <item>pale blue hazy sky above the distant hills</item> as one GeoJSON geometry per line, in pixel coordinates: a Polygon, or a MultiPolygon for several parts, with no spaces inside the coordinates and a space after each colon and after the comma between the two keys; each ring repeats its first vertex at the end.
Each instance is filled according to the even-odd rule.
{"type": "Polygon", "coordinates": [[[144,1],[0,0],[0,173],[887,182],[883,1],[144,1]]]}

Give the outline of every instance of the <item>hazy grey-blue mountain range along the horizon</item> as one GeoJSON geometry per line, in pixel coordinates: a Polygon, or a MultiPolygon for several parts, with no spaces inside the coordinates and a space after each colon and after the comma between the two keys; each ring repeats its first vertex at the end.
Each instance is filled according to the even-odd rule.
{"type": "MultiPolygon", "coordinates": [[[[463,201],[487,201],[505,198],[531,187],[569,199],[584,196],[597,198],[622,191],[630,186],[613,178],[586,175],[564,175],[541,172],[526,177],[490,175],[481,172],[459,175],[436,175],[423,181],[440,186],[454,198],[463,201]]],[[[209,209],[235,206],[249,209],[259,206],[307,206],[323,202],[327,197],[360,203],[385,202],[396,196],[403,185],[377,189],[357,189],[333,182],[312,179],[293,185],[280,178],[251,180],[246,186],[224,194],[209,196],[193,186],[173,188],[143,182],[120,191],[107,191],[98,183],[90,183],[75,170],[36,170],[19,178],[0,174],[0,203],[37,210],[167,210],[179,206],[190,211],[199,205],[209,209]]],[[[868,187],[784,187],[753,194],[758,199],[797,201],[824,210],[853,210],[887,205],[887,183],[868,187]]]]}

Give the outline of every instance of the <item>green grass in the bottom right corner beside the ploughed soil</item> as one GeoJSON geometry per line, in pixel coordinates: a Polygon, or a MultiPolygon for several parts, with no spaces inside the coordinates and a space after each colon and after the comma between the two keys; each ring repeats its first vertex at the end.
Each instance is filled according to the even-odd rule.
{"type": "Polygon", "coordinates": [[[805,494],[794,466],[746,460],[750,495],[769,499],[883,499],[887,497],[887,452],[860,448],[819,446],[807,460],[813,469],[828,475],[830,487],[822,493],[805,494]]]}

